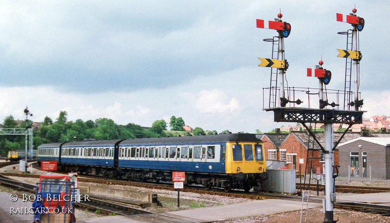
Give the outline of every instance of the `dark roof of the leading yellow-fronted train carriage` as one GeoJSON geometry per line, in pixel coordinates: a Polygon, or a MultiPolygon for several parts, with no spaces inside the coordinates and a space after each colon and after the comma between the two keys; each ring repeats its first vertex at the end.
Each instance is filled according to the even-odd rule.
{"type": "Polygon", "coordinates": [[[256,137],[256,134],[234,133],[206,136],[182,136],[182,137],[163,137],[163,138],[142,138],[128,139],[120,142],[120,145],[126,144],[169,144],[169,143],[199,143],[199,142],[262,142],[256,137]]]}

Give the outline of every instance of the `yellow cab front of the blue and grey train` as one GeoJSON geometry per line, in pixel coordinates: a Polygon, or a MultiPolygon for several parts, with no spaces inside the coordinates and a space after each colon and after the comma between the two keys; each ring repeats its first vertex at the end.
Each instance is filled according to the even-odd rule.
{"type": "Polygon", "coordinates": [[[231,142],[226,145],[226,173],[234,188],[261,190],[268,179],[262,142],[231,142]]]}

